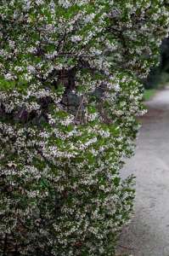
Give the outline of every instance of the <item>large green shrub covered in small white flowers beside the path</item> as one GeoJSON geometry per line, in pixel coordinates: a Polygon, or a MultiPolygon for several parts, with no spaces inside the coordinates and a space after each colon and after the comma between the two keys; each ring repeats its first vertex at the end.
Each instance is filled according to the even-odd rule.
{"type": "Polygon", "coordinates": [[[114,255],[134,199],[133,177],[122,181],[119,170],[144,113],[136,74],[158,63],[166,8],[162,0],[2,1],[3,255],[114,255]]]}

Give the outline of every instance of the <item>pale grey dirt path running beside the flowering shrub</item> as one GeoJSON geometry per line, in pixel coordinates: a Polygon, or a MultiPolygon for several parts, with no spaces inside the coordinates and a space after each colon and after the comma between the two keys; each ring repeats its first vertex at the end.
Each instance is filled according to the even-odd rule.
{"type": "Polygon", "coordinates": [[[169,86],[145,105],[136,154],[121,170],[137,177],[137,198],[117,255],[169,256],[169,86]]]}

